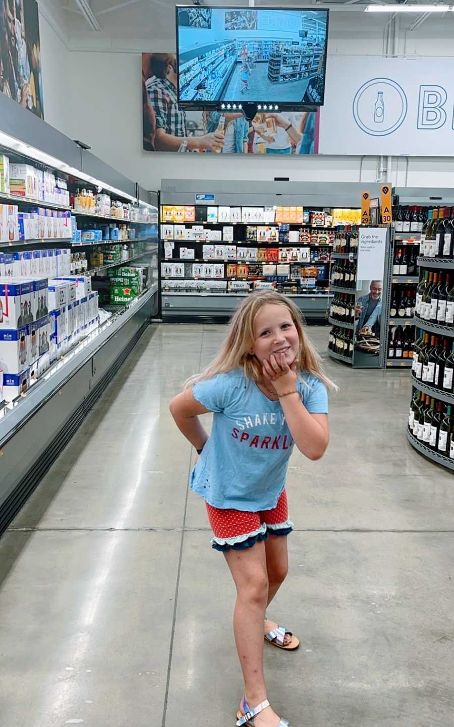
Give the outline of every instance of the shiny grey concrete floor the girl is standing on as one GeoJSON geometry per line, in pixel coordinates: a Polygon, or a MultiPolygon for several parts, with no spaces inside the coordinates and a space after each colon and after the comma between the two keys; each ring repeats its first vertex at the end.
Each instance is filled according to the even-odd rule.
{"type": "MultiPolygon", "coordinates": [[[[234,587],[167,403],[222,326],[154,326],[0,540],[0,726],[233,727],[234,587]]],[[[290,575],[266,646],[292,727],[452,727],[454,481],[405,439],[407,371],[351,371],[330,448],[293,454],[290,575]]]]}

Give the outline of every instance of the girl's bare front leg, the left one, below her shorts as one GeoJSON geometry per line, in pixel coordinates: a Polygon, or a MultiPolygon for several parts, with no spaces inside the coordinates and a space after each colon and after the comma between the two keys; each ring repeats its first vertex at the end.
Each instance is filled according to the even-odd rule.
{"type": "MultiPolygon", "coordinates": [[[[263,621],[268,599],[266,551],[263,542],[245,550],[228,550],[226,561],[236,585],[234,634],[250,708],[267,699],[263,676],[263,621]]],[[[271,707],[255,717],[255,727],[276,727],[279,717],[271,707]]]]}

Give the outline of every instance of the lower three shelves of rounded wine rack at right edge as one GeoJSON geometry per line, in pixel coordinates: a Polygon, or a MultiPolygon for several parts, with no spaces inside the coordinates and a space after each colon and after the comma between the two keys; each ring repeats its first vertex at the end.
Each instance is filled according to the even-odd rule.
{"type": "MultiPolygon", "coordinates": [[[[453,310],[454,306],[454,259],[420,256],[418,257],[417,265],[420,270],[418,295],[422,295],[422,297],[417,302],[418,314],[415,315],[414,322],[417,332],[430,343],[421,343],[420,338],[418,345],[415,347],[414,361],[416,365],[413,366],[411,374],[412,403],[410,405],[407,439],[411,446],[427,459],[431,459],[437,462],[437,464],[447,467],[447,469],[454,470],[454,321],[450,321],[452,317],[450,311],[453,310]],[[431,272],[426,273],[426,270],[431,272]],[[440,273],[439,277],[442,278],[442,282],[438,285],[437,273],[434,270],[438,270],[440,273]],[[427,280],[426,276],[428,275],[433,276],[433,278],[430,277],[429,282],[425,282],[427,280]],[[435,282],[431,286],[430,281],[432,279],[435,282]],[[434,301],[437,304],[435,308],[434,301]],[[431,309],[431,314],[430,319],[426,320],[428,318],[428,306],[431,309]],[[435,323],[434,319],[440,322],[435,323]],[[442,341],[443,346],[441,345],[442,341]],[[421,367],[422,371],[426,368],[426,374],[421,374],[421,367]],[[448,377],[447,371],[449,372],[448,377]],[[426,380],[422,380],[423,378],[426,380]],[[421,398],[423,397],[426,397],[425,405],[424,400],[423,404],[421,404],[421,398]],[[410,418],[412,416],[413,423],[415,423],[415,417],[419,414],[421,425],[423,406],[425,406],[423,412],[424,418],[429,413],[429,404],[427,401],[430,401],[431,406],[437,406],[439,414],[437,414],[436,425],[439,427],[439,430],[443,428],[445,437],[447,438],[446,447],[445,441],[443,441],[441,449],[438,440],[437,444],[434,445],[434,441],[436,441],[435,434],[434,441],[428,443],[421,439],[421,433],[418,434],[418,431],[414,427],[410,429],[410,418]],[[442,418],[444,418],[443,427],[440,427],[440,419],[442,418]],[[432,446],[429,446],[429,444],[432,444],[432,446]]],[[[434,409],[431,411],[433,412],[434,409]]],[[[436,417],[433,416],[432,422],[435,419],[436,417]]],[[[433,429],[436,430],[436,427],[433,427],[433,429]]],[[[439,433],[437,433],[438,436],[441,437],[439,433]]]]}

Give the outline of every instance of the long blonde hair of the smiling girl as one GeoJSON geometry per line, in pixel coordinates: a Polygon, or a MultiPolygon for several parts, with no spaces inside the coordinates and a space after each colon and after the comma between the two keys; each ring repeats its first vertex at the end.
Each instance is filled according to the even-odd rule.
{"type": "Polygon", "coordinates": [[[282,308],[287,308],[290,311],[290,316],[292,316],[300,340],[298,369],[313,374],[329,390],[337,390],[338,387],[324,373],[322,360],[306,336],[303,314],[290,298],[274,290],[260,291],[247,296],[237,308],[230,324],[228,324],[226,337],[218,356],[202,373],[189,378],[184,387],[188,388],[197,381],[210,379],[216,374],[227,374],[229,371],[234,371],[234,369],[242,369],[247,379],[259,381],[262,378],[261,366],[254,354],[250,353],[250,348],[255,340],[255,318],[263,305],[269,304],[282,305],[282,308]]]}

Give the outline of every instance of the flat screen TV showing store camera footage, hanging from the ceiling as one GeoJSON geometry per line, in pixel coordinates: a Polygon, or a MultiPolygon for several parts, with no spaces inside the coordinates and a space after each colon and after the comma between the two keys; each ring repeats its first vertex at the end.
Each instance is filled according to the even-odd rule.
{"type": "Polygon", "coordinates": [[[177,6],[178,103],[321,106],[328,10],[177,6]]]}

